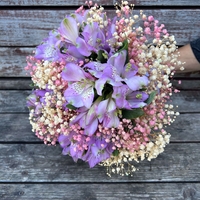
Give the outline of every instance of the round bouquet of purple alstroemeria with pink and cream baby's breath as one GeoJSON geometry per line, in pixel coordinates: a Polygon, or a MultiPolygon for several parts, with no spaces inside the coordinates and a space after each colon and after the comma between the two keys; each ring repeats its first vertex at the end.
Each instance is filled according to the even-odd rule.
{"type": "MultiPolygon", "coordinates": [[[[67,15],[27,58],[33,81],[30,123],[48,145],[107,174],[131,174],[169,143],[165,127],[179,114],[167,102],[181,64],[174,36],[127,1],[116,16],[87,2],[67,15]]],[[[175,91],[176,92],[176,91],[175,91]]]]}

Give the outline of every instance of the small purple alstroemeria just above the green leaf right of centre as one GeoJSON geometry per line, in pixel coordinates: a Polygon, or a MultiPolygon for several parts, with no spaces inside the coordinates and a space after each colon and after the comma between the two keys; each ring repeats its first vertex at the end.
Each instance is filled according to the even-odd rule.
{"type": "Polygon", "coordinates": [[[148,99],[148,94],[144,91],[132,91],[127,85],[113,87],[112,97],[115,99],[117,108],[142,108],[148,99]]]}

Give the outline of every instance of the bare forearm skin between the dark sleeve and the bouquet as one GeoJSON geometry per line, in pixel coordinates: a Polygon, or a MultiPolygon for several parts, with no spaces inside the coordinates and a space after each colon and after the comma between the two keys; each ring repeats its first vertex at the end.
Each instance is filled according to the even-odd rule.
{"type": "Polygon", "coordinates": [[[179,69],[176,69],[177,73],[200,71],[200,63],[194,56],[190,44],[187,44],[187,45],[179,48],[178,52],[180,53],[179,60],[184,63],[183,67],[185,69],[184,69],[184,71],[180,71],[179,69]]]}

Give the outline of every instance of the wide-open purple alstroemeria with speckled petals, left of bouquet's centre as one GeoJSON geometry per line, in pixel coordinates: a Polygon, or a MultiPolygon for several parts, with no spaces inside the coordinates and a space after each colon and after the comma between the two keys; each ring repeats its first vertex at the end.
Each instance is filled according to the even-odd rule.
{"type": "Polygon", "coordinates": [[[74,63],[68,63],[61,76],[68,81],[64,92],[67,102],[77,108],[90,108],[94,99],[94,78],[74,63]]]}

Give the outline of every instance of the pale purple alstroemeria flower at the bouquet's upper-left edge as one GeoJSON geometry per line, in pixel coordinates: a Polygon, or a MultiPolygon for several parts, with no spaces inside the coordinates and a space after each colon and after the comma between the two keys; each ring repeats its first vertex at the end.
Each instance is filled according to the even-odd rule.
{"type": "Polygon", "coordinates": [[[36,48],[35,58],[49,61],[61,60],[65,55],[60,53],[60,43],[58,32],[51,31],[49,37],[44,40],[43,44],[36,48]]]}

